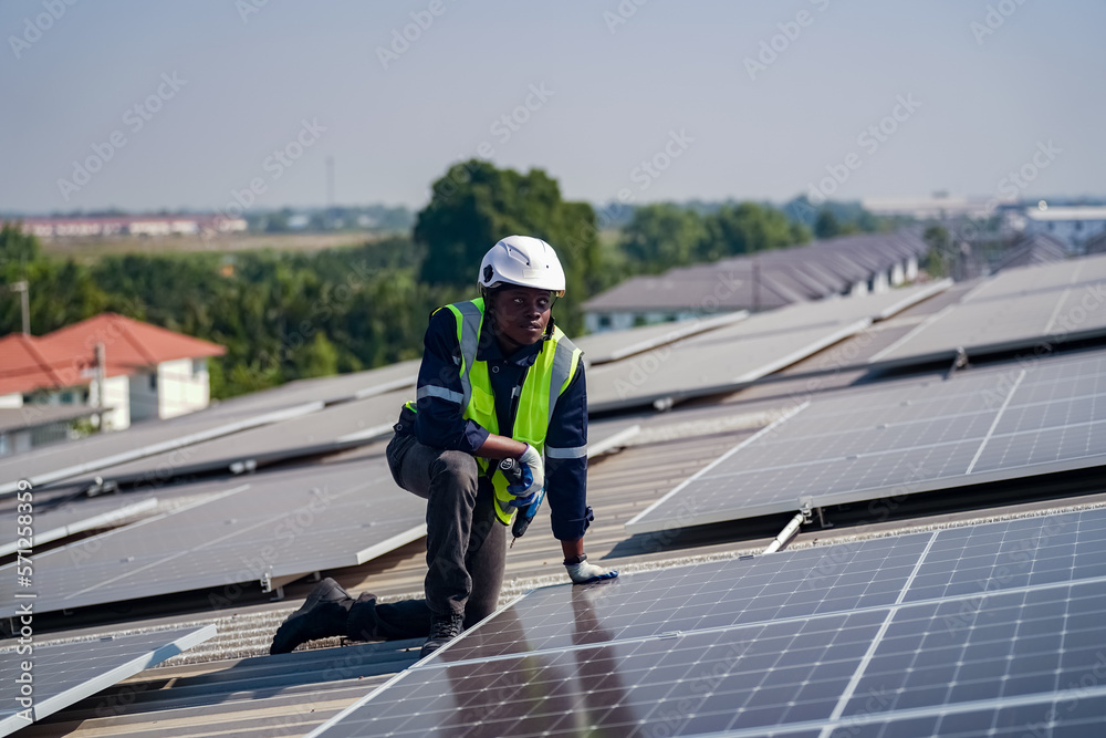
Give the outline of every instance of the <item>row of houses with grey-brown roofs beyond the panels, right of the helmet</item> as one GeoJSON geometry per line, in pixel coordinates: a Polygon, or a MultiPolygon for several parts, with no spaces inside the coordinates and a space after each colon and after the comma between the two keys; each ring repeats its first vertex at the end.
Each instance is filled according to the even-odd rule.
{"type": "Polygon", "coordinates": [[[634,277],[583,304],[588,332],[760,312],[794,302],[884,292],[912,282],[928,250],[908,231],[844,236],[710,264],[634,277]]]}

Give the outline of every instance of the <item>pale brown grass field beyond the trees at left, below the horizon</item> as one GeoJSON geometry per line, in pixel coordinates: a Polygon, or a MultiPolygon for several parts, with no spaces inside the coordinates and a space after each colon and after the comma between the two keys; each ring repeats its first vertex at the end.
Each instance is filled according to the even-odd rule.
{"type": "Polygon", "coordinates": [[[43,239],[42,249],[55,257],[72,257],[79,261],[95,260],[113,253],[184,253],[209,251],[230,253],[234,251],[319,251],[343,247],[361,246],[366,241],[385,238],[375,231],[346,233],[227,233],[202,238],[199,236],[159,236],[111,238],[59,238],[43,239]]]}

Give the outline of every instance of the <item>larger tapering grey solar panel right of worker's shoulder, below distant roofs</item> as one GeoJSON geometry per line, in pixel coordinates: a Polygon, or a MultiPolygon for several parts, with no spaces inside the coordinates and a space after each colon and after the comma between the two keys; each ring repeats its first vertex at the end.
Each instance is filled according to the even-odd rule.
{"type": "Polygon", "coordinates": [[[587,373],[587,407],[602,412],[722,392],[789,366],[947,289],[940,282],[877,295],[789,305],[661,345],[587,373]]]}

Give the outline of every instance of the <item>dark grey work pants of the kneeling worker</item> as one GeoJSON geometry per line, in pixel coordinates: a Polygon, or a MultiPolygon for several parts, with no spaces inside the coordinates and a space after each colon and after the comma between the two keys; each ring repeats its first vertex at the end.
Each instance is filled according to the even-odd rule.
{"type": "Polygon", "coordinates": [[[491,482],[472,456],[424,446],[414,435],[397,435],[386,454],[396,484],[427,501],[428,571],[425,601],[377,605],[377,616],[421,630],[430,614],[457,613],[471,627],[495,611],[507,565],[507,526],[495,518],[491,482]]]}

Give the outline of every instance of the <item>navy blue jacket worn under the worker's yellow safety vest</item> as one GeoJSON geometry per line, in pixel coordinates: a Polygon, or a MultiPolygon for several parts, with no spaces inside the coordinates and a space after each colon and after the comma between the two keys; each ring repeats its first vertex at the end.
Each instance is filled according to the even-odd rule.
{"type": "MultiPolygon", "coordinates": [[[[488,362],[488,376],[495,394],[495,415],[501,436],[512,436],[512,389],[522,386],[526,370],[533,365],[544,343],[539,341],[504,356],[490,322],[484,321],[477,358],[488,362]]],[[[425,350],[418,372],[418,386],[434,385],[460,393],[460,346],[457,343],[457,320],[451,311],[438,310],[430,316],[422,344],[425,350]]],[[[461,417],[463,408],[457,403],[426,396],[418,401],[417,407],[415,436],[425,446],[476,454],[488,438],[487,428],[461,417]]],[[[587,445],[587,389],[583,362],[557,399],[545,445],[556,448],[587,445]]],[[[553,536],[562,541],[583,538],[592,517],[586,492],[587,458],[547,459],[545,490],[553,518],[553,536]]]]}

